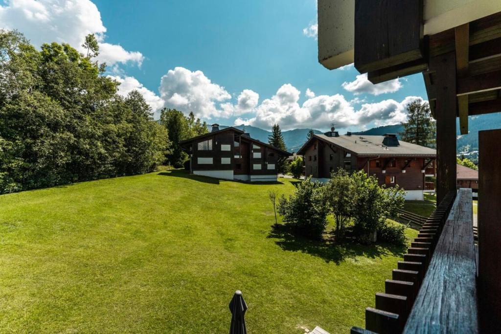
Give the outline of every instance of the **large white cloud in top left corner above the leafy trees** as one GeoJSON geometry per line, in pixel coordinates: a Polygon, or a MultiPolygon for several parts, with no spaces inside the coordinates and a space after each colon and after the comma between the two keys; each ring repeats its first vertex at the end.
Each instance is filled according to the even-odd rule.
{"type": "Polygon", "coordinates": [[[17,29],[38,47],[64,42],[80,52],[84,52],[81,45],[85,36],[95,34],[101,62],[141,65],[144,59],[140,52],[105,42],[106,27],[98,8],[89,0],[10,0],[5,5],[0,2],[0,28],[17,29]]]}

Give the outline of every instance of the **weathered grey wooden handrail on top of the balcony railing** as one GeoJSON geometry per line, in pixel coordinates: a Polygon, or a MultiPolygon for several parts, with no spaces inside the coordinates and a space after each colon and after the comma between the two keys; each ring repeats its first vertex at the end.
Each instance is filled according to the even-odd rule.
{"type": "Polygon", "coordinates": [[[477,333],[471,189],[459,189],[404,333],[477,333]]]}

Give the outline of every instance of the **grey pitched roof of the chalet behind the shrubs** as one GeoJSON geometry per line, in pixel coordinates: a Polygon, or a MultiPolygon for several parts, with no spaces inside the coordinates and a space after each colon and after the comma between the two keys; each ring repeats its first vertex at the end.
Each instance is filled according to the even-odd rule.
{"type": "Polygon", "coordinates": [[[303,145],[298,151],[298,154],[304,154],[310,142],[313,139],[319,139],[359,156],[436,156],[435,149],[407,143],[401,140],[399,140],[400,145],[398,146],[385,146],[383,145],[384,138],[384,136],[340,135],[339,137],[329,137],[326,135],[314,135],[303,145]]]}

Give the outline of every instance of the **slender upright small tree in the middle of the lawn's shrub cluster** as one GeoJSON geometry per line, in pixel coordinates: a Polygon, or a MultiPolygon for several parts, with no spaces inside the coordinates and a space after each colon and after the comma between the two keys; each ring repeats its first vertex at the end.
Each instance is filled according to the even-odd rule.
{"type": "Polygon", "coordinates": [[[324,194],[325,203],[336,220],[336,235],[342,238],[346,222],[354,215],[353,209],[357,201],[355,182],[345,169],[340,168],[327,182],[324,194]]]}

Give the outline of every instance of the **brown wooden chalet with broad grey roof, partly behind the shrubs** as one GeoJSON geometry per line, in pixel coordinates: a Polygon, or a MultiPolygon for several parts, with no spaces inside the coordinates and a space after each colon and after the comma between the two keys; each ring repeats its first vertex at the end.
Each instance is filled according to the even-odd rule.
{"type": "Polygon", "coordinates": [[[364,170],[380,185],[398,184],[408,200],[423,200],[425,177],[435,175],[435,150],[399,141],[395,134],[360,137],[331,129],[310,138],[298,154],[305,157],[306,176],[314,180],[327,182],[340,167],[364,170]]]}

